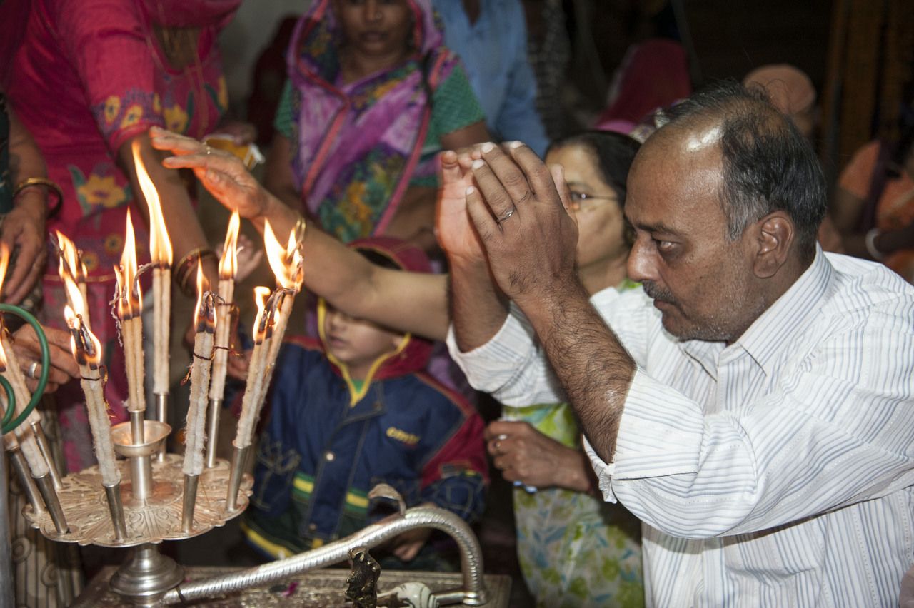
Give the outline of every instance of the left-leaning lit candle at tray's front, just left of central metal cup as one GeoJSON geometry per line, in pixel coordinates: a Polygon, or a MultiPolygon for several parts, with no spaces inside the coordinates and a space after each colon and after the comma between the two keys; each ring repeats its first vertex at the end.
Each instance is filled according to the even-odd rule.
{"type": "Polygon", "coordinates": [[[101,378],[101,342],[83,322],[82,314],[64,307],[64,316],[70,331],[69,345],[73,358],[80,366],[80,386],[86,395],[86,409],[89,411],[89,427],[95,458],[99,461],[101,483],[112,487],[121,482],[121,472],[114,459],[111,418],[105,402],[101,378]]]}

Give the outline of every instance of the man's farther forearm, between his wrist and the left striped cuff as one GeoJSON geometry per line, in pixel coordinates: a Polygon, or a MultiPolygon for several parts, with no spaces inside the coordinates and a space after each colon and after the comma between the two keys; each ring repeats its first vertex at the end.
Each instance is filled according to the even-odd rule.
{"type": "Polygon", "coordinates": [[[498,291],[484,261],[451,260],[451,317],[454,338],[462,352],[492,339],[505,323],[507,301],[498,291]]]}

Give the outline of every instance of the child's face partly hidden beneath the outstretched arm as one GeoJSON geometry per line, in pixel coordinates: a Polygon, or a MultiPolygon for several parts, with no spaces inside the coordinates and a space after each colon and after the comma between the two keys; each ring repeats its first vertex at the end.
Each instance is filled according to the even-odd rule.
{"type": "Polygon", "coordinates": [[[353,319],[331,306],[324,316],[324,342],[328,352],[346,364],[349,375],[364,380],[371,364],[393,351],[403,334],[385,330],[367,320],[353,319]]]}

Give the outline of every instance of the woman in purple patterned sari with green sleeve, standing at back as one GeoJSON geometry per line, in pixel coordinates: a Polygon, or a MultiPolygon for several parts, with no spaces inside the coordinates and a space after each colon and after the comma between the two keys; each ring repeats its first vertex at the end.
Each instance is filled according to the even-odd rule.
{"type": "Polygon", "coordinates": [[[316,0],[292,36],[267,187],[348,242],[435,245],[435,158],[485,142],[430,0],[316,0]]]}

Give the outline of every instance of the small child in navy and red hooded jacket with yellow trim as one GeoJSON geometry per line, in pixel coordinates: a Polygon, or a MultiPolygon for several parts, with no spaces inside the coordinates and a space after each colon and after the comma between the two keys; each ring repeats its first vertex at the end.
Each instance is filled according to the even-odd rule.
{"type": "MultiPolygon", "coordinates": [[[[398,239],[350,246],[382,266],[430,271],[425,254],[398,239]]],[[[431,343],[352,319],[323,300],[318,320],[320,340],[287,341],[277,362],[242,523],[250,544],[281,559],[343,538],[387,514],[367,498],[379,483],[409,507],[429,503],[477,518],[487,484],[484,423],[461,395],[422,372],[431,343]]],[[[446,569],[429,533],[397,537],[382,566],[446,569]]]]}

